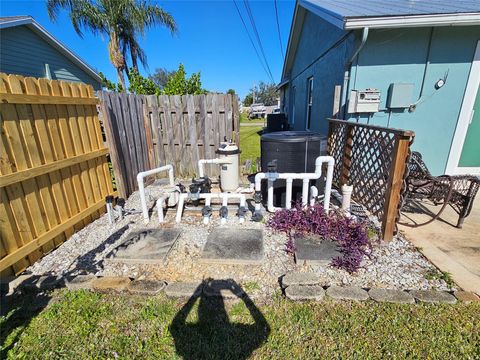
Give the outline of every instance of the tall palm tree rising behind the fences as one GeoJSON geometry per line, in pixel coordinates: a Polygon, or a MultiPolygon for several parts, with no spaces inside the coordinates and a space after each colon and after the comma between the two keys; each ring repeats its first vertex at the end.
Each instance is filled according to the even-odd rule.
{"type": "Polygon", "coordinates": [[[78,35],[89,30],[94,35],[107,35],[110,62],[117,70],[118,82],[126,89],[124,71],[130,52],[132,65],[137,60],[146,66],[146,55],[137,38],[153,26],[162,25],[172,33],[177,26],[172,15],[147,0],[47,0],[48,14],[56,20],[60,9],[69,12],[70,21],[78,35]]]}

